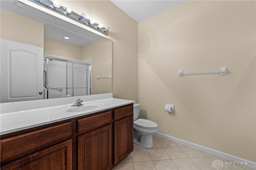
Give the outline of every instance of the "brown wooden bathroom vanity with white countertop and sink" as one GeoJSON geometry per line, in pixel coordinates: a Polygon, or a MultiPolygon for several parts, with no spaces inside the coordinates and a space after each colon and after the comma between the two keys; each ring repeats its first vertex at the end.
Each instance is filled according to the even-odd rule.
{"type": "MultiPolygon", "coordinates": [[[[133,150],[134,102],[111,96],[112,94],[83,96],[84,105],[74,108],[71,108],[71,104],[46,107],[43,109],[44,113],[54,115],[53,117],[48,116],[46,119],[44,115],[44,120],[40,119],[41,122],[37,119],[36,123],[30,122],[27,126],[14,122],[15,125],[21,126],[10,124],[11,128],[4,123],[8,121],[5,114],[16,112],[2,113],[2,110],[5,112],[7,108],[3,106],[1,169],[110,170],[133,150]],[[98,99],[97,96],[101,99],[94,100],[98,99]],[[84,107],[85,110],[75,109],[79,107],[84,107]]],[[[71,103],[75,102],[75,99],[62,100],[71,103]]],[[[19,114],[33,110],[33,114],[38,116],[42,108],[21,111],[19,114]]],[[[31,119],[31,115],[29,118],[31,119]]]]}

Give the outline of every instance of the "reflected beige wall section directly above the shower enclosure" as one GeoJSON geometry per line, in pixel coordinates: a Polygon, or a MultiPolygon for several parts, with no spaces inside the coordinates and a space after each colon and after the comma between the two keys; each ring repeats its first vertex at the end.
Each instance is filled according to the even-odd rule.
{"type": "Polygon", "coordinates": [[[82,60],[82,47],[44,37],[44,54],[82,60]]]}

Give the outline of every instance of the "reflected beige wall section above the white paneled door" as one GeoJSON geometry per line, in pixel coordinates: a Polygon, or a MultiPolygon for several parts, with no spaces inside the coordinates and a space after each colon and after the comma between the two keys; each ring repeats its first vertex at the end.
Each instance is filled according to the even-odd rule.
{"type": "Polygon", "coordinates": [[[43,23],[1,9],[0,24],[1,38],[44,47],[43,23]]]}

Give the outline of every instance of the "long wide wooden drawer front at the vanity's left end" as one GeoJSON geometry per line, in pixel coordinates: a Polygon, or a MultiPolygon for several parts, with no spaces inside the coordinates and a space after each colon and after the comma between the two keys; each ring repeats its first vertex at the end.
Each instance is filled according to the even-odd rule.
{"type": "Polygon", "coordinates": [[[71,135],[71,122],[68,122],[1,140],[1,161],[71,135]]]}

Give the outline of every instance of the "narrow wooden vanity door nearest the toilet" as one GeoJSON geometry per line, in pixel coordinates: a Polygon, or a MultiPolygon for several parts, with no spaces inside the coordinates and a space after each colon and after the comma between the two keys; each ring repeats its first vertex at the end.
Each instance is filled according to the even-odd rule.
{"type": "Polygon", "coordinates": [[[133,150],[133,115],[114,122],[114,164],[133,150]]]}

